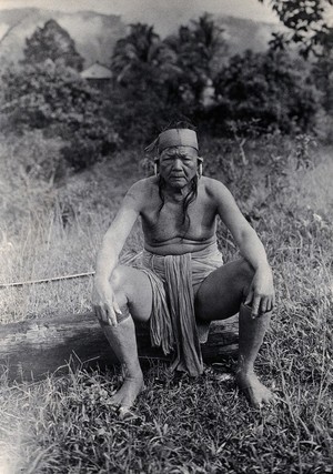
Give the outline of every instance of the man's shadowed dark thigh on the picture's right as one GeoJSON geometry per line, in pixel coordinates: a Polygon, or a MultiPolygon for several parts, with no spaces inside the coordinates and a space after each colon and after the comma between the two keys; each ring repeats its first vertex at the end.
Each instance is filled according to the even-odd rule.
{"type": "Polygon", "coordinates": [[[195,315],[203,321],[224,320],[238,313],[254,272],[243,259],[214,270],[195,295],[195,315]]]}

